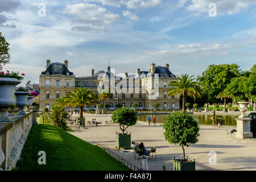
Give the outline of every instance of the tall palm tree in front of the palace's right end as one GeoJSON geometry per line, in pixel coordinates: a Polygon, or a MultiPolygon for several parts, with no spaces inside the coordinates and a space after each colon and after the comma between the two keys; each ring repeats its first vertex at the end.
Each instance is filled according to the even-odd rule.
{"type": "Polygon", "coordinates": [[[170,90],[167,93],[168,97],[175,96],[179,94],[179,98],[182,96],[182,111],[185,112],[185,104],[186,104],[186,97],[192,96],[194,99],[196,97],[201,97],[201,87],[199,82],[193,81],[196,78],[189,77],[188,74],[181,74],[181,76],[177,76],[178,80],[170,81],[168,86],[170,86],[170,90]]]}

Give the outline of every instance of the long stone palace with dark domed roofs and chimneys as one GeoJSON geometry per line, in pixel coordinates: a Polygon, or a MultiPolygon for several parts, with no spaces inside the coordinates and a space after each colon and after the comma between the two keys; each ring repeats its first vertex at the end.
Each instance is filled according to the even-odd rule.
{"type": "MultiPolygon", "coordinates": [[[[98,71],[90,76],[76,77],[73,72],[68,70],[68,61],[63,63],[51,63],[46,61],[46,71],[40,74],[39,78],[39,111],[44,107],[51,110],[51,105],[55,103],[56,98],[65,96],[65,94],[76,87],[84,87],[92,90],[96,96],[102,91],[107,90],[113,93],[113,98],[106,101],[109,110],[117,108],[117,104],[133,108],[133,104],[138,105],[140,110],[153,110],[154,104],[159,103],[158,109],[179,110],[180,99],[167,97],[168,82],[177,80],[177,77],[171,73],[169,64],[155,66],[151,64],[150,69],[141,71],[137,69],[136,73],[123,73],[115,75],[110,66],[106,71],[98,71]]],[[[86,106],[84,110],[95,110],[96,106],[86,106]]]]}

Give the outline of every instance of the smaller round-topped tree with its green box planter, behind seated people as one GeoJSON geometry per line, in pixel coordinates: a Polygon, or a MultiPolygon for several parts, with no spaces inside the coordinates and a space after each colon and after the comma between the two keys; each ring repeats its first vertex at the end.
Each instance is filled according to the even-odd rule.
{"type": "Polygon", "coordinates": [[[133,109],[122,107],[113,111],[112,119],[114,123],[118,123],[122,133],[115,133],[115,146],[120,150],[121,147],[131,148],[131,133],[125,133],[129,126],[133,126],[137,122],[137,115],[133,109]]]}

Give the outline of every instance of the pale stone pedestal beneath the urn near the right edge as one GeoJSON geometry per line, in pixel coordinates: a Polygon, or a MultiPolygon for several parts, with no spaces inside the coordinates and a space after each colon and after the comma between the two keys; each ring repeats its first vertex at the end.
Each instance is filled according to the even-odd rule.
{"type": "Polygon", "coordinates": [[[253,133],[251,133],[250,131],[251,118],[240,116],[236,118],[236,121],[237,121],[236,138],[239,138],[239,139],[253,138],[253,133]]]}

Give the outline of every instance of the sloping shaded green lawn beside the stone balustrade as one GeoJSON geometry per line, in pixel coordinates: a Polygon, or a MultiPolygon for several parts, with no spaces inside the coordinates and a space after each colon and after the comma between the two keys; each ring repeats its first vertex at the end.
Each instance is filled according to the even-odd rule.
{"type": "Polygon", "coordinates": [[[131,170],[102,150],[52,125],[34,125],[24,144],[16,169],[30,170],[131,170]],[[38,152],[46,152],[46,165],[38,152]]]}

